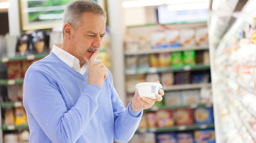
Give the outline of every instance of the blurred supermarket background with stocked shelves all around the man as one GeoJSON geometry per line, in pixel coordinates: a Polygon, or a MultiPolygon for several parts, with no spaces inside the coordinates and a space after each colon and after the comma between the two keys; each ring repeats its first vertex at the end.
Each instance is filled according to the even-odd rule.
{"type": "MultiPolygon", "coordinates": [[[[0,143],[28,143],[24,74],[62,42],[73,0],[0,0],[0,143]]],[[[129,143],[256,142],[256,0],[94,0],[107,12],[97,60],[124,106],[160,81],[129,143]]],[[[115,141],[114,141],[115,142],[115,141]]]]}

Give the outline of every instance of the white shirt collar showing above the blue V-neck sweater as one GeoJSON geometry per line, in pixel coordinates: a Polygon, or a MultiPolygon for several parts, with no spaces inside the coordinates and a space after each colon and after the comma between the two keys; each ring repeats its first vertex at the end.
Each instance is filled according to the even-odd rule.
{"type": "Polygon", "coordinates": [[[87,66],[84,64],[82,67],[80,67],[79,59],[62,50],[61,45],[62,43],[54,43],[52,52],[75,71],[84,75],[87,66]]]}

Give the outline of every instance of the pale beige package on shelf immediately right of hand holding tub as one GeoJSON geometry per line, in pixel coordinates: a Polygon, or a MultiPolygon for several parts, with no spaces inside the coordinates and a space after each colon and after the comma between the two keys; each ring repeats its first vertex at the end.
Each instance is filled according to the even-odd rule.
{"type": "Polygon", "coordinates": [[[181,105],[181,92],[180,91],[167,91],[164,93],[165,105],[181,105]]]}

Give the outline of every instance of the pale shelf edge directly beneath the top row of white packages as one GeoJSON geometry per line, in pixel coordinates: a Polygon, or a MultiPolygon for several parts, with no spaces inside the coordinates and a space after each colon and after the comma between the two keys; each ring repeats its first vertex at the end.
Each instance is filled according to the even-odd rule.
{"type": "Polygon", "coordinates": [[[141,54],[153,54],[153,53],[168,53],[168,52],[178,52],[187,50],[207,50],[209,47],[175,47],[175,48],[164,48],[164,49],[145,49],[138,51],[125,51],[125,55],[141,55],[141,54]]]}

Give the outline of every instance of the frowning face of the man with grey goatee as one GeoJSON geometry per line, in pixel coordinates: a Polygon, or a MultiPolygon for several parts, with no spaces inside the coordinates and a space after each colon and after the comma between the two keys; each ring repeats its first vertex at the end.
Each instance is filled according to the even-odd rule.
{"type": "Polygon", "coordinates": [[[72,54],[79,59],[80,65],[88,64],[95,50],[100,49],[106,33],[106,24],[103,15],[85,12],[81,18],[81,25],[71,37],[74,45],[72,54]]]}

